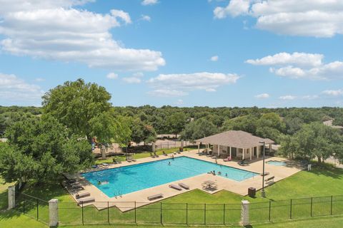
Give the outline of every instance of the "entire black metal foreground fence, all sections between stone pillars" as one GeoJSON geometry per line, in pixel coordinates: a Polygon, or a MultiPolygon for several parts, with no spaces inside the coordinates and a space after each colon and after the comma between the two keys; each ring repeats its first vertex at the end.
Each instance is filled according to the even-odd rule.
{"type": "MultiPolygon", "coordinates": [[[[156,202],[59,202],[59,224],[239,224],[241,204],[191,204],[156,202]]],[[[49,222],[49,203],[21,194],[21,212],[49,222]]],[[[343,214],[343,195],[302,199],[270,200],[249,204],[249,222],[282,222],[343,214]]]]}

